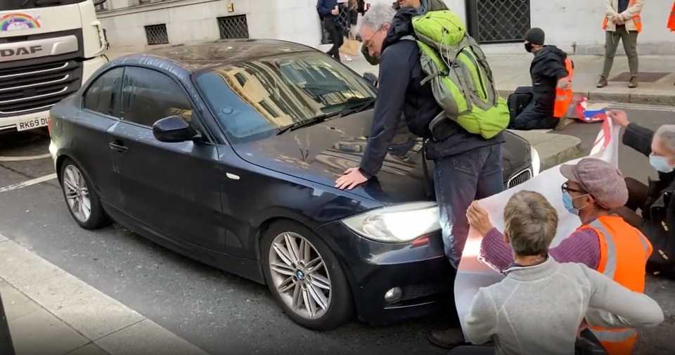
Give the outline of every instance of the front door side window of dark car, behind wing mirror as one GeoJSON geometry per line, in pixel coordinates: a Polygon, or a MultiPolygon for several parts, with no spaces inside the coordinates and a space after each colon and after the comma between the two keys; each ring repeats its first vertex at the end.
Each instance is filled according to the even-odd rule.
{"type": "Polygon", "coordinates": [[[192,122],[192,106],[184,89],[161,72],[127,67],[124,72],[122,120],[152,127],[169,116],[192,122]]]}

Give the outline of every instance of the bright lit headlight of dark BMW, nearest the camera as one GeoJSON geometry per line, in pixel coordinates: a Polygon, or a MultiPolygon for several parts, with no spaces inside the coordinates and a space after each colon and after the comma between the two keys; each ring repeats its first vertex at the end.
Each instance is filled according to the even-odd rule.
{"type": "Polygon", "coordinates": [[[365,238],[383,243],[406,243],[441,229],[436,202],[373,209],[342,219],[342,223],[365,238]]]}

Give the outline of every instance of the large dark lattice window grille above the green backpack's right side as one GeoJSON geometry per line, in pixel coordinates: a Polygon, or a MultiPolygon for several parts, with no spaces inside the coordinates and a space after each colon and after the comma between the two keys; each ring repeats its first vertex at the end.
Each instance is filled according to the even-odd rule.
{"type": "Polygon", "coordinates": [[[466,0],[469,32],[479,43],[525,39],[530,28],[530,0],[466,0]]]}

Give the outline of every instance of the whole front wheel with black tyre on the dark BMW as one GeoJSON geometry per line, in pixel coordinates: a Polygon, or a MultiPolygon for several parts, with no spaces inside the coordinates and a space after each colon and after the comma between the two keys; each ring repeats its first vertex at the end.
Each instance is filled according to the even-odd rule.
{"type": "Polygon", "coordinates": [[[297,222],[278,221],[267,228],[261,240],[260,250],[262,254],[262,269],[269,290],[278,304],[281,304],[285,314],[295,321],[295,323],[309,330],[323,331],[338,328],[352,319],[354,316],[354,304],[347,276],[345,276],[345,271],[342,270],[342,266],[340,266],[333,251],[321,240],[319,235],[316,235],[309,228],[297,222]],[[297,245],[298,249],[303,246],[302,240],[304,240],[304,246],[309,246],[310,249],[309,254],[311,254],[311,257],[296,257],[295,260],[311,259],[311,261],[316,261],[318,257],[321,263],[314,262],[314,264],[311,264],[303,260],[302,264],[298,262],[297,265],[294,265],[295,273],[293,273],[293,268],[290,266],[295,261],[288,258],[287,260],[290,263],[283,261],[279,257],[278,249],[280,245],[283,247],[288,245],[289,238],[292,240],[291,243],[297,245]],[[316,267],[321,264],[323,264],[323,267],[316,267]],[[280,273],[279,271],[285,273],[280,273]],[[328,281],[328,296],[326,296],[325,288],[317,286],[323,285],[323,287],[326,287],[326,281],[328,281]],[[290,288],[288,291],[282,292],[283,290],[280,290],[283,288],[282,285],[290,288]],[[316,293],[319,291],[321,292],[320,295],[316,293]],[[300,301],[300,309],[297,311],[293,307],[294,292],[299,292],[300,299],[302,299],[300,301]],[[324,297],[322,298],[321,295],[324,297]],[[323,302],[326,308],[318,309],[314,316],[311,316],[310,310],[313,307],[307,306],[307,303],[304,302],[307,297],[311,297],[309,303],[314,304],[314,309],[320,303],[317,299],[321,299],[322,301],[323,299],[327,299],[328,302],[323,302]]]}

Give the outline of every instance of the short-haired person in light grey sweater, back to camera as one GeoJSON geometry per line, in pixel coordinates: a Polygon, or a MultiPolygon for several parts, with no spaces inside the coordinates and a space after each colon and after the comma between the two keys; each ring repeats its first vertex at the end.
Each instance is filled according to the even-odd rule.
{"type": "MultiPolygon", "coordinates": [[[[477,203],[474,202],[477,206],[477,203]]],[[[473,212],[472,212],[473,213],[473,212]]],[[[520,191],[503,212],[511,262],[501,282],[480,288],[465,317],[467,340],[494,342],[494,354],[574,354],[580,325],[656,326],[661,307],[584,264],[549,257],[558,212],[544,195],[520,191]],[[601,316],[600,312],[603,311],[601,316]]],[[[452,355],[493,354],[489,347],[456,347],[452,355]]],[[[627,355],[629,353],[625,353],[627,355]]]]}

